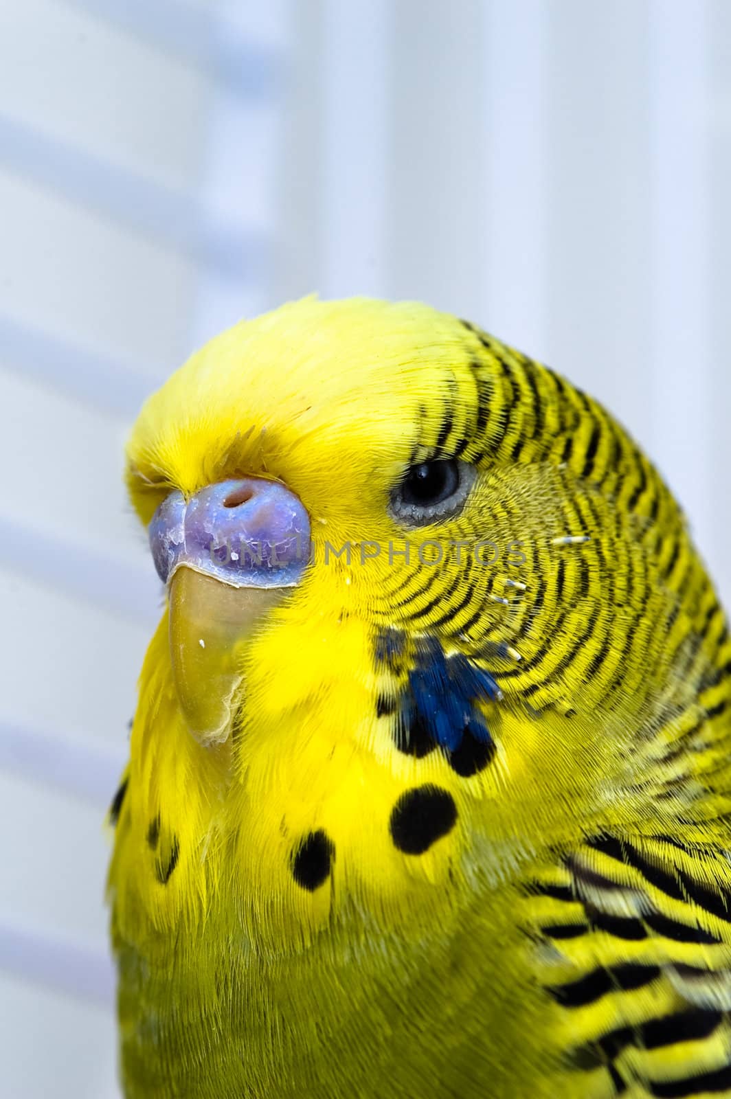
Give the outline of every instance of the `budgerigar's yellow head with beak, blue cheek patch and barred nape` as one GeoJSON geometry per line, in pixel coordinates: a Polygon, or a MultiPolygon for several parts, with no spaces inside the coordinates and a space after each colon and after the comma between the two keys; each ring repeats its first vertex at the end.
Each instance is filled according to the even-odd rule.
{"type": "Polygon", "coordinates": [[[660,477],[599,404],[451,315],[308,298],[243,322],[148,399],[128,458],[188,734],[234,744],[251,802],[280,795],[340,851],[376,843],[376,787],[378,843],[406,854],[477,804],[494,850],[575,829],[695,689],[661,566],[704,574],[660,477]],[[407,788],[431,817],[399,822],[407,788]]]}

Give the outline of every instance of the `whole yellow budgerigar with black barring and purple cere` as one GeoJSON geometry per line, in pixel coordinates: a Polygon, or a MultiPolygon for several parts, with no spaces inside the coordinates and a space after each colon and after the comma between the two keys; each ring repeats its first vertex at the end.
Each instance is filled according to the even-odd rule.
{"type": "Polygon", "coordinates": [[[128,1099],[731,1096],[731,640],[617,421],[308,298],[149,398],[128,480],[128,1099]]]}

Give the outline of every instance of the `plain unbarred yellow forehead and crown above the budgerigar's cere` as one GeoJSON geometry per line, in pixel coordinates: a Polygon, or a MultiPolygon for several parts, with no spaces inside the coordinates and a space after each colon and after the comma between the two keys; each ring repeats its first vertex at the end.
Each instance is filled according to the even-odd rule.
{"type": "Polygon", "coordinates": [[[148,399],[130,468],[186,492],[224,468],[285,476],[295,452],[315,482],[355,455],[392,470],[439,430],[464,359],[465,330],[427,306],[292,302],[217,336],[148,399]]]}

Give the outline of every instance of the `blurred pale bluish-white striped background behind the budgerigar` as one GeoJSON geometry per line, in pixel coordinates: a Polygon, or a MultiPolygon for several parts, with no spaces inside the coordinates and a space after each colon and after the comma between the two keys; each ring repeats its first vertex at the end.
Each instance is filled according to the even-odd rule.
{"type": "Polygon", "coordinates": [[[0,0],[3,1095],[119,1095],[145,395],[284,299],[425,299],[620,417],[729,603],[730,196],[727,0],[0,0]]]}

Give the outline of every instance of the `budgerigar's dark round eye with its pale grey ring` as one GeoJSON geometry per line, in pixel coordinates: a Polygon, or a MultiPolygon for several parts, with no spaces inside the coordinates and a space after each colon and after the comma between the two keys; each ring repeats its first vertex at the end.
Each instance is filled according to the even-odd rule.
{"type": "Polygon", "coordinates": [[[391,514],[414,526],[446,519],[463,506],[474,479],[474,466],[456,458],[420,462],[391,492],[391,514]]]}

